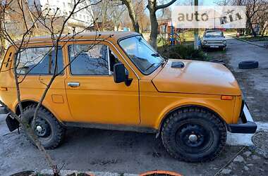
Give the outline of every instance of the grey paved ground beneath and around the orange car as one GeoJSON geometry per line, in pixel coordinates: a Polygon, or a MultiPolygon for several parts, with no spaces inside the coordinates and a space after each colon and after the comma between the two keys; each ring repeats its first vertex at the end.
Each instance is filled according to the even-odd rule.
{"type": "MultiPolygon", "coordinates": [[[[209,51],[233,71],[256,121],[268,117],[268,49],[228,39],[225,52],[209,51]],[[260,68],[239,70],[238,62],[257,60],[260,68]]],[[[43,156],[22,134],[8,132],[5,115],[0,115],[0,175],[47,168],[43,156]]],[[[264,140],[262,140],[264,142],[264,140]]],[[[268,140],[264,146],[268,146],[268,140]]],[[[185,163],[171,158],[154,134],[70,128],[63,144],[49,151],[64,170],[141,173],[171,170],[182,175],[268,175],[267,157],[254,146],[226,146],[208,163],[185,163]]]]}

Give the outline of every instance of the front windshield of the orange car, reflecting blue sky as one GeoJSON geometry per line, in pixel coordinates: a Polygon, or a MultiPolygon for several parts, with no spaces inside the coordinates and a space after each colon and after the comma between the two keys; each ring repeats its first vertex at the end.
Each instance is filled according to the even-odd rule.
{"type": "Polygon", "coordinates": [[[145,75],[156,70],[164,59],[157,54],[150,44],[141,36],[129,37],[119,42],[131,61],[145,75]]]}

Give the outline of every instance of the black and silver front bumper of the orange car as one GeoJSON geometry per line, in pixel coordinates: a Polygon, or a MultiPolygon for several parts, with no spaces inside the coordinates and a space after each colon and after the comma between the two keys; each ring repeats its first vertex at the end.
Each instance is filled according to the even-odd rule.
{"type": "Polygon", "coordinates": [[[257,124],[253,121],[248,106],[243,103],[243,110],[240,113],[241,122],[238,124],[228,124],[228,130],[231,133],[243,133],[243,134],[254,134],[257,130],[257,124]]]}

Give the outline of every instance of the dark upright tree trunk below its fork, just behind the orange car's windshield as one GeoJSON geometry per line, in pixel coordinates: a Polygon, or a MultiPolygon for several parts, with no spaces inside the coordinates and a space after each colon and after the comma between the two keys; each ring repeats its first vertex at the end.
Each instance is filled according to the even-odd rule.
{"type": "Polygon", "coordinates": [[[154,47],[154,49],[157,49],[158,23],[155,11],[150,11],[150,20],[151,20],[150,44],[152,45],[152,47],[154,47]]]}

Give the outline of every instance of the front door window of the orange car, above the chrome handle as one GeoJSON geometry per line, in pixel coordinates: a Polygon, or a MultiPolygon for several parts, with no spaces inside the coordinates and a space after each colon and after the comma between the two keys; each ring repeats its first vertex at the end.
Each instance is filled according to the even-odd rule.
{"type": "Polygon", "coordinates": [[[68,53],[72,75],[111,75],[108,46],[72,44],[68,53]]]}

